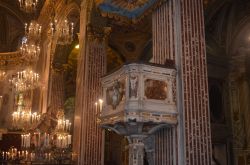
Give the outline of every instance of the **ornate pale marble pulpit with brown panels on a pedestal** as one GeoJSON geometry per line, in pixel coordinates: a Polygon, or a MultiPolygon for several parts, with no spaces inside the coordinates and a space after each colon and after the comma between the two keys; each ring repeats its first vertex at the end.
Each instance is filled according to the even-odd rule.
{"type": "Polygon", "coordinates": [[[132,63],[102,78],[102,128],[126,136],[129,164],[153,163],[153,134],[177,124],[175,68],[132,63]]]}

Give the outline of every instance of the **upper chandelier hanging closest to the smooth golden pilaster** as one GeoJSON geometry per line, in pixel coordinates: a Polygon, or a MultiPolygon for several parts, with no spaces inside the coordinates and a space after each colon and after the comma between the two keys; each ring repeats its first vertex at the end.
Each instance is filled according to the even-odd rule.
{"type": "Polygon", "coordinates": [[[57,44],[67,45],[73,41],[74,36],[74,23],[69,22],[65,19],[62,23],[58,23],[57,20],[54,20],[50,23],[52,36],[57,34],[57,44]]]}

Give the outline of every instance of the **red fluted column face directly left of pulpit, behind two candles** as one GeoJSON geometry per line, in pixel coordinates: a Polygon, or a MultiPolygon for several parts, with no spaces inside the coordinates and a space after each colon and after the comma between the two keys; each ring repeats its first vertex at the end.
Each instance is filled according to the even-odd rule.
{"type": "Polygon", "coordinates": [[[84,94],[82,97],[82,128],[80,162],[85,165],[101,165],[103,152],[103,130],[97,125],[95,102],[102,97],[100,78],[106,73],[105,41],[88,32],[84,94]]]}

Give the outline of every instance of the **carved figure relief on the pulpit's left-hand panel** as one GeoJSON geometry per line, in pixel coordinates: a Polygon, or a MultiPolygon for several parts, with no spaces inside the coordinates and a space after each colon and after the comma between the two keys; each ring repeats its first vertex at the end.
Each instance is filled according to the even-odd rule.
{"type": "Polygon", "coordinates": [[[112,87],[107,89],[107,104],[111,105],[113,109],[120,104],[120,102],[124,99],[124,82],[115,81],[112,87]]]}

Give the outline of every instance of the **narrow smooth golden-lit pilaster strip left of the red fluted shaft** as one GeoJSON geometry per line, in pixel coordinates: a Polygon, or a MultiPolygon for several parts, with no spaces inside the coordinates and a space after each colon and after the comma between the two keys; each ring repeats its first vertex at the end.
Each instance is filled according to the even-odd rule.
{"type": "Polygon", "coordinates": [[[82,133],[82,112],[83,112],[83,97],[85,87],[85,69],[86,69],[86,31],[89,22],[91,9],[91,1],[83,0],[81,2],[80,11],[80,33],[79,38],[79,55],[77,59],[77,76],[76,76],[76,100],[75,100],[75,116],[74,116],[74,132],[73,132],[73,152],[76,155],[74,159],[77,164],[81,164],[81,133],[82,133]]]}

